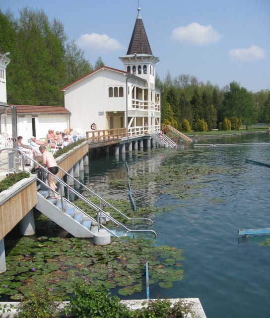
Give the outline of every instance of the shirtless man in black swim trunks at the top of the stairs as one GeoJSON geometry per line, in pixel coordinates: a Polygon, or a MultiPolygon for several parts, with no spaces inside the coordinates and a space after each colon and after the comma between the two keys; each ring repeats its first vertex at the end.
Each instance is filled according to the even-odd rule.
{"type": "MultiPolygon", "coordinates": [[[[49,186],[52,189],[56,190],[57,186],[56,186],[56,184],[54,182],[54,180],[55,180],[54,174],[58,173],[59,168],[58,168],[57,163],[56,163],[56,161],[54,159],[54,156],[53,156],[53,154],[49,153],[46,150],[46,146],[44,146],[44,145],[39,147],[39,151],[42,154],[42,163],[41,163],[41,165],[47,166],[48,170],[52,173],[52,174],[48,173],[48,176],[47,176],[49,186]]],[[[37,165],[37,166],[35,166],[35,168],[38,169],[39,166],[37,165]]],[[[51,199],[58,199],[57,193],[54,192],[54,191],[53,191],[53,193],[54,193],[54,196],[51,197],[51,199]]]]}

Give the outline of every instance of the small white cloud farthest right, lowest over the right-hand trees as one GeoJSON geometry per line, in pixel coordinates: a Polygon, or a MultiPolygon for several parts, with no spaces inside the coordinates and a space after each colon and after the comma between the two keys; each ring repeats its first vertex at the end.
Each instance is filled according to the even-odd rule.
{"type": "Polygon", "coordinates": [[[265,50],[256,45],[252,45],[248,49],[234,49],[229,51],[229,56],[233,60],[242,62],[252,62],[265,58],[265,50]]]}

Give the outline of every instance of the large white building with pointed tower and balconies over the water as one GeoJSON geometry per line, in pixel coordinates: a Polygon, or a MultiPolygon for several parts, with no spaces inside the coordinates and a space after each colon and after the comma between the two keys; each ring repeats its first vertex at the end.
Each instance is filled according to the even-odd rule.
{"type": "Polygon", "coordinates": [[[140,16],[135,21],[127,55],[120,57],[125,70],[101,67],[62,88],[70,127],[91,131],[128,127],[129,136],[160,130],[161,88],[155,85],[155,64],[140,16]]]}

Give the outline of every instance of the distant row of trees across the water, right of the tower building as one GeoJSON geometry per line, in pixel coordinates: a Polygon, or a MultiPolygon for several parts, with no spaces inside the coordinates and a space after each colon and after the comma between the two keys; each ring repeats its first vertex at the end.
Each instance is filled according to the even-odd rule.
{"type": "Polygon", "coordinates": [[[216,128],[227,130],[224,129],[227,119],[233,128],[239,127],[235,121],[245,125],[270,123],[269,89],[253,93],[236,81],[219,88],[209,81],[204,84],[195,76],[185,74],[172,79],[169,72],[163,81],[157,76],[156,84],[164,89],[162,122],[175,128],[186,126],[186,120],[195,130],[205,122],[204,128],[209,131],[216,128]]]}

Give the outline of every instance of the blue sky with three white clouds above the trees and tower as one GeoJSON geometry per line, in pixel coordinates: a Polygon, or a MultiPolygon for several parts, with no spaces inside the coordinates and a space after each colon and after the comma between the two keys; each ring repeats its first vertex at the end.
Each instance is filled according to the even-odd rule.
{"type": "MultiPolygon", "coordinates": [[[[1,2],[15,16],[25,6],[43,9],[64,24],[92,65],[101,56],[123,70],[118,57],[127,53],[138,0],[1,2]]],[[[139,6],[161,79],[169,71],[220,88],[235,80],[253,92],[270,89],[270,0],[139,0],[139,6]]]]}

